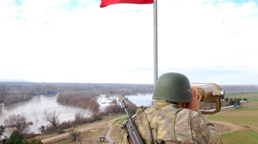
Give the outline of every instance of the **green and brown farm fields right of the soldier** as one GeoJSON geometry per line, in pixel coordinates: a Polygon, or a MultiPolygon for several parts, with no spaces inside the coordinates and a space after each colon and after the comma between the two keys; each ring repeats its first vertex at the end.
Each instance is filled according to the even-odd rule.
{"type": "Polygon", "coordinates": [[[239,108],[206,115],[214,121],[225,144],[258,143],[258,92],[228,93],[226,97],[247,98],[239,108]],[[229,127],[229,128],[227,128],[229,127]]]}

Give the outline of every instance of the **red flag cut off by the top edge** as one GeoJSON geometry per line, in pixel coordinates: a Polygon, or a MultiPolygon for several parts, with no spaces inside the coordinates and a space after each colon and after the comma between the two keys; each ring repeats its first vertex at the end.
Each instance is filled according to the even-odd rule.
{"type": "Polygon", "coordinates": [[[150,4],[153,0],[101,0],[100,7],[105,7],[118,3],[150,4]]]}

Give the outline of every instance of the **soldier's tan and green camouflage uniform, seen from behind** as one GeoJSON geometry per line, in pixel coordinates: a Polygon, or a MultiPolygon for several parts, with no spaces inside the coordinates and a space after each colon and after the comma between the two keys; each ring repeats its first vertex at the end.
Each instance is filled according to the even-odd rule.
{"type": "MultiPolygon", "coordinates": [[[[138,109],[135,124],[145,143],[223,143],[214,125],[199,110],[178,108],[166,100],[156,100],[144,112],[138,109]]],[[[121,142],[131,143],[128,134],[123,134],[121,142]]]]}

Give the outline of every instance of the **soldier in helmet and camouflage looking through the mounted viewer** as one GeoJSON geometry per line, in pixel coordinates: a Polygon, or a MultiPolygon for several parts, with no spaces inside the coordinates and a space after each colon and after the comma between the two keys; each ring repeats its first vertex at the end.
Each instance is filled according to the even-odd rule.
{"type": "MultiPolygon", "coordinates": [[[[135,124],[145,143],[223,143],[221,136],[199,110],[201,95],[179,73],[161,75],[151,108],[138,109],[135,124]]],[[[125,129],[121,143],[132,143],[125,129]]]]}

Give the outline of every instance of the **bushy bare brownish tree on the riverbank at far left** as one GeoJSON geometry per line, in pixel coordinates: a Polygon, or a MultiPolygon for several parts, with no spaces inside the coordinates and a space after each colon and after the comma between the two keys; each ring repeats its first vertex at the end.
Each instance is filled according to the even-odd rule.
{"type": "Polygon", "coordinates": [[[9,115],[9,118],[5,119],[4,123],[7,127],[15,127],[18,133],[25,131],[25,129],[28,127],[27,119],[25,118],[24,114],[9,115]]]}

